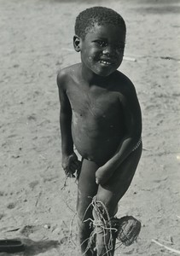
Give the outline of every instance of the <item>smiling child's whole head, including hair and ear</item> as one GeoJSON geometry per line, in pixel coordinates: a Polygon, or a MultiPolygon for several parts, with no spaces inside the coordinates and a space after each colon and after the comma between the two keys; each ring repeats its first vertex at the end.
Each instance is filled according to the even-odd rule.
{"type": "Polygon", "coordinates": [[[125,49],[125,20],[105,7],[81,12],[75,24],[73,46],[86,71],[107,76],[121,64],[125,49]]]}

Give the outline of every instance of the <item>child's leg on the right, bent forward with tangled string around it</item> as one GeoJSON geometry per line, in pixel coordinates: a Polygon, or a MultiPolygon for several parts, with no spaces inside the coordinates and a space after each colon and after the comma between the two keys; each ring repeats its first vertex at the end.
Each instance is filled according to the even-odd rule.
{"type": "MultiPolygon", "coordinates": [[[[131,184],[141,154],[142,144],[131,152],[106,184],[99,185],[96,195],[96,207],[93,209],[93,216],[97,222],[99,220],[98,212],[102,212],[103,220],[114,217],[119,200],[125,195],[131,184]],[[103,211],[103,206],[106,207],[108,214],[103,211]]],[[[98,256],[113,256],[115,236],[114,231],[104,230],[101,225],[96,226],[96,251],[98,256]]]]}

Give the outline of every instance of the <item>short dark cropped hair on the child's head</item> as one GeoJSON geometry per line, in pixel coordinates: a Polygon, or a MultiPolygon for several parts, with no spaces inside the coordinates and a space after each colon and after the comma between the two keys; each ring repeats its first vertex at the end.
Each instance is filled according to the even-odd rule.
{"type": "Polygon", "coordinates": [[[126,32],[125,20],[121,15],[113,9],[95,6],[85,9],[77,16],[75,34],[84,39],[87,32],[95,26],[95,23],[98,25],[113,24],[115,26],[121,26],[126,32]]]}

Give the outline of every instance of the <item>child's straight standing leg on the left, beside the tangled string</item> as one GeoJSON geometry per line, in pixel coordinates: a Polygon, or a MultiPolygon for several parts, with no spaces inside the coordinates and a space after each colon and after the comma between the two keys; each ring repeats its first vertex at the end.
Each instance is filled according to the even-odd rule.
{"type": "Polygon", "coordinates": [[[81,172],[78,177],[78,236],[81,245],[81,252],[84,256],[95,256],[96,252],[88,249],[90,234],[93,231],[91,219],[92,207],[90,203],[96,195],[97,184],[95,173],[98,166],[89,160],[82,160],[81,172]],[[86,252],[87,251],[87,252],[86,252]]]}

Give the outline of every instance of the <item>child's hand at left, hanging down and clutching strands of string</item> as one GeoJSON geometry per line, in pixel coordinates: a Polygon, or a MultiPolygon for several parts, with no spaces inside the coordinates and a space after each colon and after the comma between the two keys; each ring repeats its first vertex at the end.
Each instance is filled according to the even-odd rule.
{"type": "Polygon", "coordinates": [[[62,168],[64,169],[67,177],[75,177],[74,172],[78,171],[81,167],[81,161],[78,156],[73,152],[66,156],[62,156],[62,168]]]}

